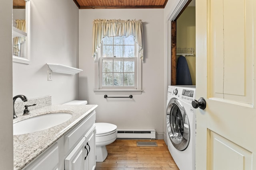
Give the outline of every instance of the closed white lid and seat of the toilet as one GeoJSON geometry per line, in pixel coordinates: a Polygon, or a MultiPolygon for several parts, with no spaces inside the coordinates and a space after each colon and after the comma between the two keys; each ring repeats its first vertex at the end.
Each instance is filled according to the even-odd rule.
{"type": "Polygon", "coordinates": [[[96,136],[109,135],[116,132],[116,125],[111,123],[95,123],[96,136]]]}

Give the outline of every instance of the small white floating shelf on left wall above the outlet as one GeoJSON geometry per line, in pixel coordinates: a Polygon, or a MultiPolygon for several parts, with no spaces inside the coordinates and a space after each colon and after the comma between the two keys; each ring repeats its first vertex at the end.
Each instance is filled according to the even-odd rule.
{"type": "Polygon", "coordinates": [[[63,74],[76,74],[82,71],[81,69],[70,67],[70,66],[65,66],[62,64],[52,64],[52,63],[47,63],[49,68],[52,70],[52,72],[58,72],[58,73],[63,73],[63,74]]]}

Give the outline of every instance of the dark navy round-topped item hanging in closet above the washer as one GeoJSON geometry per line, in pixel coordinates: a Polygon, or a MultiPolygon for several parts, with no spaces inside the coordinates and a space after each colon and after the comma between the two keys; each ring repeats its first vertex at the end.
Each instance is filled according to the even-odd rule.
{"type": "Polygon", "coordinates": [[[176,85],[192,85],[192,79],[188,68],[188,63],[184,56],[178,58],[176,70],[176,85]]]}

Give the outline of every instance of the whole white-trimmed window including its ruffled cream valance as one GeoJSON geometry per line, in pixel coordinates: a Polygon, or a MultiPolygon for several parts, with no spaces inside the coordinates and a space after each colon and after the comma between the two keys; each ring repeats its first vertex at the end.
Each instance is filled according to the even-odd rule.
{"type": "Polygon", "coordinates": [[[94,92],[141,94],[142,21],[94,20],[93,30],[94,92]]]}

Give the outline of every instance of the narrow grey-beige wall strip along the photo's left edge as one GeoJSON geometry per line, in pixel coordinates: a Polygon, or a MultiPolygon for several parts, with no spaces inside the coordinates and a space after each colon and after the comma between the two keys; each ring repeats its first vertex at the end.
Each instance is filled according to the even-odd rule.
{"type": "Polygon", "coordinates": [[[0,169],[13,169],[12,1],[0,5],[0,169]]]}

